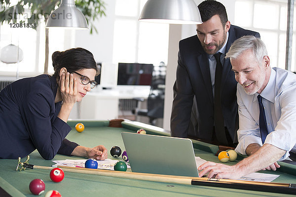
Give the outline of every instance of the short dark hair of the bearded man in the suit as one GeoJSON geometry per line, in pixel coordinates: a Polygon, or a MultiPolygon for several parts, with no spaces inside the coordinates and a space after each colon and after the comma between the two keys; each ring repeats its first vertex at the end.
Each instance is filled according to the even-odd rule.
{"type": "Polygon", "coordinates": [[[202,22],[206,22],[216,14],[219,15],[223,27],[228,21],[225,6],[216,0],[205,0],[198,5],[202,22]]]}

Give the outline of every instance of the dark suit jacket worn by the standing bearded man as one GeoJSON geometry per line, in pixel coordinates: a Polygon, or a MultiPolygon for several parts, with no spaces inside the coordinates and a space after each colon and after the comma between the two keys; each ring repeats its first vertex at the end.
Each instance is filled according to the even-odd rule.
{"type": "MultiPolygon", "coordinates": [[[[226,45],[243,35],[259,33],[231,25],[226,45]]],[[[224,60],[221,80],[221,99],[224,125],[235,139],[238,129],[238,112],[234,72],[229,59],[224,60]]],[[[171,115],[171,135],[187,137],[193,98],[196,98],[197,138],[211,140],[214,127],[214,98],[208,55],[204,52],[197,35],[185,38],[179,43],[177,78],[174,84],[174,101],[171,115]]]]}

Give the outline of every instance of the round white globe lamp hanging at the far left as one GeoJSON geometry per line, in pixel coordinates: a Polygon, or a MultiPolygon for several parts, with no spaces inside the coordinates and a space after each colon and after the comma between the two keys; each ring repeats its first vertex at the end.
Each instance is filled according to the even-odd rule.
{"type": "Polygon", "coordinates": [[[6,64],[19,63],[24,59],[23,50],[14,44],[9,44],[1,49],[1,62],[6,64]],[[17,49],[19,52],[17,53],[17,49]],[[18,58],[17,58],[18,54],[18,58]]]}

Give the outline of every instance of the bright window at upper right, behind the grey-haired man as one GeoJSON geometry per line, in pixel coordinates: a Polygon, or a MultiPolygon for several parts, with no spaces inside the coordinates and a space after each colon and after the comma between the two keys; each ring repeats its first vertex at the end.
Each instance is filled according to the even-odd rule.
{"type": "MultiPolygon", "coordinates": [[[[284,0],[236,0],[234,25],[259,32],[267,47],[271,67],[285,69],[287,1],[284,0]]],[[[294,8],[296,10],[296,8],[294,8]]],[[[296,70],[296,15],[294,14],[291,70],[296,70]]]]}

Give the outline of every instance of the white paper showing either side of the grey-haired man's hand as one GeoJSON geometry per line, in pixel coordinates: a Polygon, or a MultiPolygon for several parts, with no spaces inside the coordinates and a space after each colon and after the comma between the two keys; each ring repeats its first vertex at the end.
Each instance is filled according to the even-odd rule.
{"type": "MultiPolygon", "coordinates": [[[[196,162],[196,166],[198,167],[198,166],[200,166],[201,164],[204,164],[207,161],[201,159],[200,157],[195,157],[195,162],[196,162]]],[[[280,175],[276,175],[276,174],[265,174],[265,173],[254,172],[254,173],[242,176],[237,180],[259,181],[259,182],[268,182],[269,183],[269,182],[273,181],[274,179],[276,179],[279,176],[280,175]]]]}

